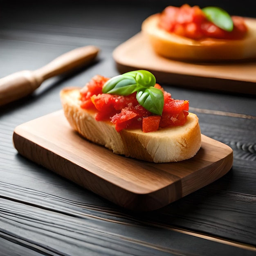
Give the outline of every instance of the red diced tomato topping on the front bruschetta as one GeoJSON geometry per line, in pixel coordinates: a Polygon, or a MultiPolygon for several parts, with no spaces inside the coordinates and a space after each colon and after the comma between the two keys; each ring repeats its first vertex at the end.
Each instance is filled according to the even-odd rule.
{"type": "Polygon", "coordinates": [[[128,96],[102,93],[106,81],[108,81],[106,77],[94,76],[81,89],[81,108],[94,108],[97,111],[95,115],[97,121],[111,121],[118,132],[126,128],[140,128],[143,132],[152,132],[167,126],[185,124],[189,101],[172,99],[171,94],[164,91],[161,85],[155,84],[155,88],[162,90],[164,94],[162,116],[153,115],[142,107],[136,99],[136,92],[128,96]]]}

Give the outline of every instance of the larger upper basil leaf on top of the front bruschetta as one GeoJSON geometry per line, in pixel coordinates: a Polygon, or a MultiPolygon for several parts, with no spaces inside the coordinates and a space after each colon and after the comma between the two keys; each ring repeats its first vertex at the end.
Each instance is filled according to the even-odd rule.
{"type": "Polygon", "coordinates": [[[129,95],[138,90],[154,86],[155,76],[146,70],[130,71],[108,80],[102,88],[103,93],[129,95]]]}

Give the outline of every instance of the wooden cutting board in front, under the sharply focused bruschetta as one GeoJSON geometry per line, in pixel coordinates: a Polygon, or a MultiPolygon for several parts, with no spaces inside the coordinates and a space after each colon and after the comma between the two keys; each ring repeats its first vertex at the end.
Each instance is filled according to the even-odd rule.
{"type": "Polygon", "coordinates": [[[233,150],[202,135],[195,157],[156,164],[121,155],[81,138],[62,110],[17,126],[13,144],[28,159],[132,210],[164,207],[217,180],[233,164],[233,150]]]}

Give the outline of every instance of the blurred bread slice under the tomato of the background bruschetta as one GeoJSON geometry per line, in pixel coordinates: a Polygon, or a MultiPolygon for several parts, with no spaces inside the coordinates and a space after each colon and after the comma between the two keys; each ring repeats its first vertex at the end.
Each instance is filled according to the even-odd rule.
{"type": "Polygon", "coordinates": [[[230,61],[256,58],[256,20],[245,18],[248,34],[240,40],[207,38],[193,40],[169,33],[158,27],[160,13],[142,22],[145,34],[154,51],[166,58],[184,61],[230,61]]]}

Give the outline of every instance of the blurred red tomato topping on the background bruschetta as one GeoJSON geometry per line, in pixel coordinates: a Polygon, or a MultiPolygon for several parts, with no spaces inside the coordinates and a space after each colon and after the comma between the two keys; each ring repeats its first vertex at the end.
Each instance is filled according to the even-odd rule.
{"type": "Polygon", "coordinates": [[[179,36],[200,40],[203,38],[241,39],[247,33],[244,19],[231,17],[234,29],[225,31],[207,20],[204,12],[198,6],[183,4],[181,7],[168,6],[159,18],[159,27],[179,36]]]}

